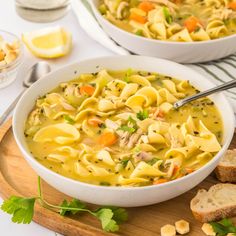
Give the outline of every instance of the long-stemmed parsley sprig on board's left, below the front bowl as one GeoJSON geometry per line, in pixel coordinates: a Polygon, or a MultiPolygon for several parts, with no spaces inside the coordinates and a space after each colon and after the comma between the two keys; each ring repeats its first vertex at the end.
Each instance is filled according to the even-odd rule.
{"type": "Polygon", "coordinates": [[[123,223],[128,218],[128,214],[123,208],[105,206],[92,211],[86,208],[86,205],[77,199],[72,199],[70,202],[64,200],[59,206],[52,205],[43,198],[40,177],[38,177],[38,196],[32,198],[11,196],[3,202],[1,210],[12,215],[12,221],[15,223],[29,224],[33,219],[36,201],[39,201],[45,208],[57,211],[62,216],[77,214],[78,212],[87,212],[99,219],[102,229],[107,232],[118,231],[119,224],[123,223]]]}

